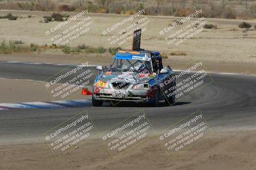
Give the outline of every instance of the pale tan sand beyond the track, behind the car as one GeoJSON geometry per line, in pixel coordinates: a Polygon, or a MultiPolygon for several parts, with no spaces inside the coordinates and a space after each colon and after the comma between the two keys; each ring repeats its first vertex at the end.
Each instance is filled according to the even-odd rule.
{"type": "MultiPolygon", "coordinates": [[[[44,11],[10,11],[1,10],[0,15],[12,12],[23,18],[10,21],[7,19],[0,20],[0,41],[22,40],[25,44],[36,43],[38,45],[51,45],[51,36],[47,36],[45,31],[50,29],[58,22],[40,23],[44,15],[51,15],[51,12],[44,11]],[[32,15],[28,18],[28,15],[32,15]],[[19,23],[19,24],[17,24],[19,23]],[[10,29],[10,28],[13,29],[10,29]]],[[[90,31],[83,36],[79,36],[70,46],[89,45],[104,46],[104,48],[116,47],[108,41],[111,34],[103,35],[102,31],[106,30],[116,22],[124,20],[128,15],[99,14],[89,13],[92,17],[93,24],[90,31]],[[104,24],[102,24],[104,23],[104,24]]],[[[145,16],[141,16],[143,18],[145,16]]],[[[169,64],[174,69],[182,69],[186,63],[199,60],[205,63],[209,71],[256,74],[256,30],[241,29],[238,25],[243,20],[227,20],[217,18],[206,18],[209,24],[217,25],[218,29],[204,29],[195,35],[193,39],[188,39],[180,45],[168,45],[164,41],[164,36],[159,31],[168,27],[173,20],[179,20],[181,17],[164,17],[164,16],[147,16],[150,20],[147,29],[143,32],[141,47],[148,50],[157,50],[168,56],[164,59],[164,64],[169,64]],[[185,52],[185,56],[170,55],[172,52],[185,52]]],[[[196,18],[192,18],[194,21],[196,18]]],[[[79,22],[79,19],[76,21],[79,22]]],[[[76,23],[74,21],[74,24],[76,23]]],[[[253,26],[256,20],[246,20],[253,26]]],[[[179,25],[177,29],[181,28],[179,25]]],[[[122,48],[130,49],[131,42],[124,43],[122,48]]],[[[0,60],[21,60],[27,62],[71,62],[74,63],[79,57],[86,57],[92,64],[108,65],[113,56],[106,52],[103,54],[81,53],[80,55],[65,55],[59,51],[42,51],[40,53],[13,53],[12,55],[0,55],[0,60]],[[29,57],[30,56],[30,57],[29,57]]]]}

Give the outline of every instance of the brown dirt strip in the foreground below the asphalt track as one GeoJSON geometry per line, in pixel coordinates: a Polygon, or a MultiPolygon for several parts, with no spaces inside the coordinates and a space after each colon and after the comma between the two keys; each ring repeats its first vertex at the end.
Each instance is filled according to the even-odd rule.
{"type": "Polygon", "coordinates": [[[1,145],[1,169],[252,169],[255,131],[215,132],[174,157],[152,138],[113,160],[101,139],[55,159],[46,143],[1,145]]]}

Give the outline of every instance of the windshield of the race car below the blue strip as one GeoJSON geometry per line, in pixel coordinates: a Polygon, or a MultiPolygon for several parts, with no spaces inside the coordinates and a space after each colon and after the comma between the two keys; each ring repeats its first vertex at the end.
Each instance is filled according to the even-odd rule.
{"type": "Polygon", "coordinates": [[[141,73],[147,71],[152,73],[152,66],[150,61],[145,60],[126,60],[126,59],[115,59],[110,66],[110,71],[113,72],[134,72],[141,73]]]}

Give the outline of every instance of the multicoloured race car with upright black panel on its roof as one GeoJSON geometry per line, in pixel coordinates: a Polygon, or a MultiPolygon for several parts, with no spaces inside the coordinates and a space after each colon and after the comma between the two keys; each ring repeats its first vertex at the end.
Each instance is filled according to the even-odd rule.
{"type": "Polygon", "coordinates": [[[133,36],[132,50],[119,50],[109,67],[96,67],[93,106],[102,106],[104,101],[113,105],[126,101],[147,102],[154,106],[159,106],[163,99],[168,104],[175,102],[175,73],[170,66],[163,67],[159,52],[140,48],[141,29],[134,31],[133,36]]]}

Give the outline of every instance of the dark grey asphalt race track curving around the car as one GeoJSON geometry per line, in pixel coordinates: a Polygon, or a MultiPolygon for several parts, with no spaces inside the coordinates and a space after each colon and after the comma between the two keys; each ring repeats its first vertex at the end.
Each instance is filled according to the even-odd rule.
{"type": "MultiPolygon", "coordinates": [[[[67,66],[0,62],[0,77],[45,80],[67,66]]],[[[211,74],[214,82],[174,106],[127,103],[120,106],[0,111],[0,142],[43,141],[42,134],[67,118],[87,110],[99,131],[144,110],[152,126],[161,131],[200,110],[212,129],[256,129],[256,76],[211,74]]]]}

